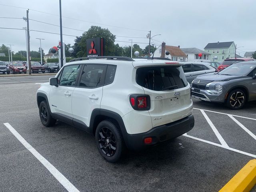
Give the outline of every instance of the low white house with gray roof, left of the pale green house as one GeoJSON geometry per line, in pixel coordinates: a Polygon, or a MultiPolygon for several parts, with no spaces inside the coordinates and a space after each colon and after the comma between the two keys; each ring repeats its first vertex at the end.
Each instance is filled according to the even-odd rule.
{"type": "Polygon", "coordinates": [[[187,55],[188,61],[210,61],[211,54],[198,48],[181,48],[181,50],[187,55]],[[202,53],[201,57],[198,56],[199,53],[202,53]]]}

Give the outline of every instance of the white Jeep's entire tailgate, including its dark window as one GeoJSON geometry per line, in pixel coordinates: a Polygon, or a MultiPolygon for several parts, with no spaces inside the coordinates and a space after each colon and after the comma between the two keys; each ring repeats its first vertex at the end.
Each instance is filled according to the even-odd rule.
{"type": "Polygon", "coordinates": [[[141,67],[136,82],[150,96],[152,126],[160,126],[191,114],[190,85],[181,66],[141,67]]]}

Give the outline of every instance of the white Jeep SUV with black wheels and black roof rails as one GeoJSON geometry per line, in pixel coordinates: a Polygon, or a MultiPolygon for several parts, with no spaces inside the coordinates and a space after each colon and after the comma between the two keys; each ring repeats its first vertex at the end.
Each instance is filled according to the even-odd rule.
{"type": "Polygon", "coordinates": [[[93,134],[109,162],[126,147],[141,150],[194,126],[182,64],[164,58],[74,59],[36,96],[44,126],[60,120],[93,134]]]}

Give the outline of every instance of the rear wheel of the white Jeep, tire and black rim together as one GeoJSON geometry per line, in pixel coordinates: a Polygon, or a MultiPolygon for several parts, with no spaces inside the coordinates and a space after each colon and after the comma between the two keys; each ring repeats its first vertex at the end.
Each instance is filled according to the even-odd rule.
{"type": "Polygon", "coordinates": [[[96,128],[95,139],[97,148],[108,162],[120,159],[124,150],[124,141],[119,126],[111,120],[103,120],[96,128]]]}

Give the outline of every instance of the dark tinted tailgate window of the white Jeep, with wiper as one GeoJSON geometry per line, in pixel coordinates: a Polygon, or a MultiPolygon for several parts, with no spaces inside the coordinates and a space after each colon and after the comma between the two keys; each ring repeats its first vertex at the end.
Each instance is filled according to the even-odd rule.
{"type": "Polygon", "coordinates": [[[188,85],[181,66],[138,68],[136,82],[144,88],[155,91],[179,89],[188,85]]]}

